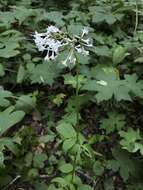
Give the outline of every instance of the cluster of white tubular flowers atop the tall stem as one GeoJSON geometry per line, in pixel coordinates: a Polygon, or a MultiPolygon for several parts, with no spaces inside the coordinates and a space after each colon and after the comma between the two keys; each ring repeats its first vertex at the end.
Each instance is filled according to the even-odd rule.
{"type": "MultiPolygon", "coordinates": [[[[53,60],[57,57],[61,47],[70,45],[78,53],[88,55],[89,51],[85,50],[86,47],[92,47],[90,39],[85,39],[85,36],[89,33],[87,27],[83,28],[81,36],[69,37],[63,33],[59,28],[55,26],[49,26],[47,32],[34,34],[34,41],[39,51],[46,51],[45,60],[53,60]]],[[[73,58],[73,50],[69,52],[68,57],[63,64],[67,64],[73,58]]]]}

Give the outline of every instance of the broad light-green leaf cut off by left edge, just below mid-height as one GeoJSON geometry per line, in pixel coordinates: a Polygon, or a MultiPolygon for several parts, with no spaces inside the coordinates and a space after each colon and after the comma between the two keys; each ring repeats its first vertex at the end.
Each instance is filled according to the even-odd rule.
{"type": "Polygon", "coordinates": [[[10,127],[20,122],[25,113],[23,111],[14,111],[14,107],[11,106],[0,112],[0,135],[5,133],[10,127]]]}

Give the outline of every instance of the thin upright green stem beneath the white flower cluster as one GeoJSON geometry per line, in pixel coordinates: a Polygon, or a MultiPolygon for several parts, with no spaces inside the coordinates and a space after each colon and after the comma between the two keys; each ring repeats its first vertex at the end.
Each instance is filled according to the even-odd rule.
{"type": "MultiPolygon", "coordinates": [[[[76,91],[75,91],[75,111],[76,111],[76,143],[79,141],[79,134],[80,134],[80,128],[79,128],[79,62],[75,53],[76,58],[76,91]]],[[[74,180],[75,171],[76,171],[76,164],[77,164],[77,154],[74,156],[73,161],[73,171],[72,171],[72,182],[74,180]]]]}

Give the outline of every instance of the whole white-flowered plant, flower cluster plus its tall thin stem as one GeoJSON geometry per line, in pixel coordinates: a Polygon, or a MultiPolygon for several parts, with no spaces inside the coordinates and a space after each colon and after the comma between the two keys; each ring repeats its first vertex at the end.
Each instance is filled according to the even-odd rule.
{"type": "MultiPolygon", "coordinates": [[[[91,39],[88,38],[89,29],[84,27],[81,30],[80,35],[70,36],[68,33],[61,31],[56,26],[48,26],[45,33],[38,33],[37,31],[34,34],[34,41],[39,51],[46,51],[45,60],[54,60],[58,55],[68,49],[68,55],[62,60],[62,64],[65,66],[75,66],[76,67],[76,131],[77,139],[76,143],[79,143],[79,61],[77,58],[77,53],[84,56],[89,55],[89,49],[92,47],[91,39]]],[[[75,154],[73,159],[73,172],[72,172],[72,181],[75,175],[75,168],[77,164],[77,155],[75,154]]]]}

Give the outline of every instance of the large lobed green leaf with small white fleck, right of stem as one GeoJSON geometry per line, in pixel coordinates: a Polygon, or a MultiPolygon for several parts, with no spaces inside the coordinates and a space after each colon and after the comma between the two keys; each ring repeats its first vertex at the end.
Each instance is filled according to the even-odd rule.
{"type": "Polygon", "coordinates": [[[117,101],[131,100],[129,89],[124,80],[120,80],[118,72],[113,67],[103,67],[98,70],[97,80],[89,80],[82,89],[96,91],[95,95],[98,102],[109,100],[113,96],[117,101]]]}

